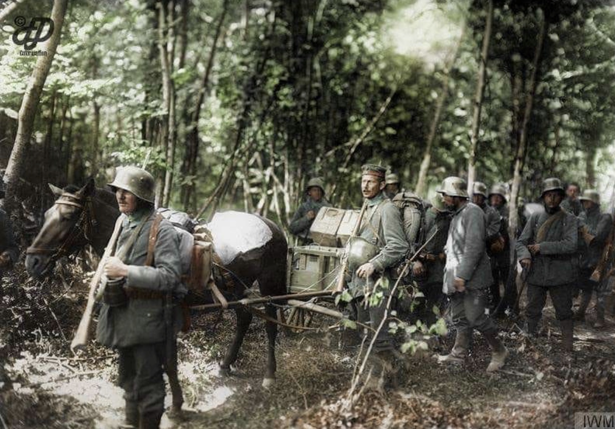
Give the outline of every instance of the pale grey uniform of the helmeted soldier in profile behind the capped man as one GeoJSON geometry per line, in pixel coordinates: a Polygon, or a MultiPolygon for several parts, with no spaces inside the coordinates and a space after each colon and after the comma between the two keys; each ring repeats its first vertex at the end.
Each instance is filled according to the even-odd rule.
{"type": "Polygon", "coordinates": [[[485,235],[485,215],[476,204],[464,204],[454,212],[446,241],[443,292],[451,298],[454,326],[466,334],[473,328],[483,333],[497,331],[485,314],[486,288],[493,282],[485,235]],[[456,292],[455,277],[466,281],[464,292],[456,292]]]}

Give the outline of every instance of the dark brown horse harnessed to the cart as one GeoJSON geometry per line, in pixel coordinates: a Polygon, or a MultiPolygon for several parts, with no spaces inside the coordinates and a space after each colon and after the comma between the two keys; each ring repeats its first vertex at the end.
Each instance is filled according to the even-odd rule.
{"type": "MultiPolygon", "coordinates": [[[[74,185],[65,189],[51,184],[49,186],[57,199],[54,205],[46,211],[41,231],[26,250],[26,269],[33,278],[49,275],[58,258],[74,255],[86,244],[92,245],[95,252],[102,255],[120,214],[114,193],[104,188],[97,188],[93,179],[90,179],[82,188],[74,185]]],[[[216,215],[224,216],[224,212],[216,215]]],[[[258,218],[263,220],[271,231],[271,239],[261,247],[241,253],[227,265],[220,267],[237,280],[233,282],[232,292],[229,291],[228,284],[220,285],[221,290],[226,291],[225,295],[228,295],[231,300],[244,298],[246,288],[251,287],[255,282],[258,283],[262,296],[284,295],[287,290],[288,244],[284,233],[271,220],[258,218]]],[[[234,225],[234,228],[240,229],[242,225],[234,225]]],[[[213,246],[216,247],[215,241],[213,246]]],[[[228,275],[215,277],[216,283],[224,282],[225,278],[229,278],[228,275]]],[[[235,311],[237,314],[235,335],[220,363],[220,373],[223,375],[231,372],[231,365],[237,360],[239,349],[253,317],[252,312],[245,307],[236,307],[235,311]]],[[[263,387],[271,386],[276,374],[277,325],[274,322],[276,308],[267,304],[266,315],[268,315],[265,323],[268,354],[263,387]]],[[[181,409],[183,398],[177,373],[168,375],[172,387],[173,408],[178,411],[181,409]]]]}

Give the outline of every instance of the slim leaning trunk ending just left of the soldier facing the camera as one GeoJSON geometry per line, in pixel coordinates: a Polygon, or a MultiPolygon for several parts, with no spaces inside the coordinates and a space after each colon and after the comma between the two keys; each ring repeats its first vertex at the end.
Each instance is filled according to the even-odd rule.
{"type": "Polygon", "coordinates": [[[532,61],[532,71],[530,75],[530,80],[528,81],[527,93],[525,97],[525,110],[523,113],[523,122],[519,129],[519,138],[517,141],[517,147],[514,151],[515,159],[514,165],[515,169],[512,177],[512,187],[510,189],[510,202],[509,202],[509,213],[510,213],[510,224],[509,224],[509,234],[511,237],[517,236],[517,226],[519,223],[519,216],[517,212],[517,197],[519,195],[519,190],[521,187],[521,179],[522,179],[522,171],[523,166],[525,164],[525,153],[527,150],[527,133],[528,133],[528,122],[530,122],[531,112],[532,112],[532,104],[534,101],[534,94],[536,93],[536,86],[538,82],[536,82],[536,75],[538,74],[538,68],[541,63],[541,53],[542,53],[542,43],[544,42],[544,36],[547,29],[547,23],[545,21],[544,13],[541,10],[541,21],[540,28],[538,30],[538,38],[536,41],[536,49],[534,50],[534,59],[532,61]]]}

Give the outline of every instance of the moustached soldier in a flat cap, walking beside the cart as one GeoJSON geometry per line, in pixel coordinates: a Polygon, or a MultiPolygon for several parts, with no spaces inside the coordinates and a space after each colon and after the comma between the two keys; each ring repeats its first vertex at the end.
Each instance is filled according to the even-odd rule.
{"type": "MultiPolygon", "coordinates": [[[[385,171],[374,164],[362,167],[361,191],[367,208],[348,255],[349,268],[353,270],[349,282],[352,305],[357,311],[357,320],[371,325],[373,330],[378,329],[386,312],[392,287],[387,283],[390,283],[392,270],[408,250],[399,209],[383,193],[385,171]],[[378,288],[384,298],[370,306],[368,298],[377,292],[379,279],[384,280],[378,288]]],[[[383,360],[391,360],[393,349],[391,334],[385,325],[376,336],[374,350],[383,360]]]]}

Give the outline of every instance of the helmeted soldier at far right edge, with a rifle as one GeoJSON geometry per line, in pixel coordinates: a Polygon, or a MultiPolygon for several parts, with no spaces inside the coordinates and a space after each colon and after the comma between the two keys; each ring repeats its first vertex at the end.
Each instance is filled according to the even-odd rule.
{"type": "Polygon", "coordinates": [[[584,208],[584,211],[579,215],[579,220],[587,227],[587,233],[585,233],[584,250],[579,261],[581,304],[574,314],[574,319],[585,319],[585,311],[592,299],[592,290],[595,289],[597,310],[595,327],[601,328],[605,326],[605,297],[601,293],[600,283],[593,281],[590,277],[602,256],[602,251],[613,227],[613,219],[611,215],[600,212],[600,195],[597,191],[586,189],[579,200],[584,208]]]}

